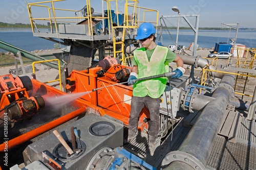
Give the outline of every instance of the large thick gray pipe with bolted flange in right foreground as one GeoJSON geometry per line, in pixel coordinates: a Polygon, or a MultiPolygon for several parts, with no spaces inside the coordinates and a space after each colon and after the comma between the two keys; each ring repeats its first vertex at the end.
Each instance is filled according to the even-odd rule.
{"type": "MultiPolygon", "coordinates": [[[[181,168],[184,166],[184,163],[191,165],[191,162],[192,164],[197,164],[198,167],[200,165],[206,165],[214,141],[218,134],[218,130],[222,122],[227,104],[233,97],[233,91],[230,90],[229,87],[233,87],[234,80],[235,79],[233,75],[223,76],[223,79],[220,82],[220,84],[222,85],[219,86],[212,94],[212,98],[215,98],[215,100],[210,101],[205,106],[197,122],[190,130],[187,137],[178,149],[178,152],[180,152],[180,154],[178,153],[177,155],[185,155],[187,161],[172,161],[165,169],[173,169],[172,165],[174,164],[174,162],[175,166],[177,166],[177,162],[180,162],[181,168]]],[[[177,153],[177,151],[174,152],[177,153]]],[[[170,157],[170,155],[172,155],[172,152],[167,154],[166,157],[168,155],[170,157]]],[[[194,168],[196,168],[197,166],[194,166],[194,168]]]]}

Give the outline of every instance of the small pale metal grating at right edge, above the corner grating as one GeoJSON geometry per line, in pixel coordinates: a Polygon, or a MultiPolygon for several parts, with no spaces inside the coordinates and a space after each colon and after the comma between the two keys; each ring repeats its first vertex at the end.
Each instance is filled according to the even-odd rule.
{"type": "Polygon", "coordinates": [[[256,147],[256,123],[254,121],[242,119],[241,127],[237,134],[237,141],[256,147]]]}

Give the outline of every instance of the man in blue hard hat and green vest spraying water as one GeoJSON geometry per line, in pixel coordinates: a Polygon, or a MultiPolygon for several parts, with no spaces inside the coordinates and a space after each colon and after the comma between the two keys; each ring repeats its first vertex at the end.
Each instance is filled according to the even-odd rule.
{"type": "Polygon", "coordinates": [[[138,81],[136,79],[155,76],[169,72],[169,62],[175,61],[178,68],[172,78],[180,78],[186,71],[183,68],[183,61],[167,47],[156,45],[156,29],[152,23],[144,22],[138,28],[138,39],[142,48],[134,51],[131,75],[128,84],[134,84],[129,120],[129,132],[127,142],[136,137],[138,118],[144,106],[150,111],[151,127],[148,131],[148,149],[153,155],[155,142],[159,131],[159,108],[160,97],[166,87],[167,78],[155,78],[151,80],[138,81]]]}

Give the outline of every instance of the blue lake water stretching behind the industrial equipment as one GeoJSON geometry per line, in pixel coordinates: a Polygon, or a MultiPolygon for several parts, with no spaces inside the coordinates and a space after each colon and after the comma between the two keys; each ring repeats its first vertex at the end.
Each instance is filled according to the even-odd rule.
{"type": "MultiPolygon", "coordinates": [[[[42,32],[49,32],[50,29],[39,29],[42,32]]],[[[174,41],[168,32],[165,30],[162,33],[163,45],[168,46],[169,44],[175,44],[176,42],[176,30],[169,30],[174,41]]],[[[211,48],[215,47],[216,42],[231,42],[229,39],[236,36],[236,31],[217,31],[217,30],[199,30],[198,33],[198,45],[202,48],[211,48]]],[[[47,50],[53,49],[55,42],[34,37],[32,29],[9,29],[9,28],[0,28],[0,40],[3,40],[7,43],[10,43],[14,46],[23,48],[26,51],[35,51],[35,50],[47,50]]],[[[156,43],[158,41],[158,37],[156,43]]],[[[191,42],[194,42],[194,32],[191,30],[180,30],[178,37],[178,44],[189,46],[191,42]]],[[[248,30],[239,30],[237,42],[240,44],[246,45],[246,47],[256,48],[256,31],[248,30]]],[[[61,45],[61,47],[65,47],[61,45]]],[[[0,52],[6,52],[0,48],[0,52]]]]}

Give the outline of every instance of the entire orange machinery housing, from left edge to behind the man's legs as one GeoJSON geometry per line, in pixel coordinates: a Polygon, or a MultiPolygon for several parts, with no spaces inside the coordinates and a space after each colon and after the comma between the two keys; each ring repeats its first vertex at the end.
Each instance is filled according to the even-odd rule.
{"type": "MultiPolygon", "coordinates": [[[[65,110],[64,114],[57,114],[54,119],[48,118],[47,122],[43,123],[42,125],[36,125],[36,129],[28,131],[25,134],[14,136],[13,138],[10,137],[10,140],[8,141],[9,149],[29,139],[32,139],[33,137],[36,137],[39,134],[44,133],[47,130],[50,130],[64,122],[67,122],[68,120],[84,112],[95,113],[100,116],[103,116],[105,114],[110,115],[114,118],[121,120],[124,125],[128,126],[133,88],[132,86],[127,85],[127,83],[125,82],[129,78],[131,67],[123,66],[117,63],[112,63],[108,67],[105,67],[105,65],[103,65],[102,67],[97,66],[82,71],[73,70],[67,78],[68,83],[66,85],[66,88],[68,89],[68,93],[89,93],[81,96],[79,99],[72,101],[70,104],[68,104],[67,107],[62,108],[62,110],[65,110]],[[102,69],[102,67],[104,69],[102,69]],[[105,87],[108,85],[114,86],[105,87]],[[92,91],[96,88],[99,89],[96,91],[92,91]]],[[[3,77],[7,76],[2,76],[2,79],[3,77]]],[[[47,98],[54,97],[56,98],[56,100],[58,100],[58,98],[60,98],[61,96],[68,95],[65,92],[62,92],[37,80],[30,80],[30,78],[28,77],[25,77],[25,80],[20,81],[20,77],[13,78],[11,75],[8,75],[8,79],[9,84],[10,82],[12,84],[8,86],[9,89],[6,88],[6,82],[4,82],[3,80],[1,82],[3,87],[1,88],[1,110],[3,110],[5,106],[11,104],[12,102],[24,97],[26,97],[26,100],[30,100],[37,99],[37,96],[41,96],[40,102],[42,103],[45,102],[45,99],[47,98]],[[27,84],[27,82],[29,83],[27,84]]],[[[19,101],[16,102],[19,103],[19,101]]],[[[47,102],[45,103],[45,105],[45,107],[38,107],[38,110],[33,110],[34,113],[36,113],[35,115],[33,114],[33,111],[31,111],[31,115],[48,116],[47,113],[49,111],[49,108],[47,106],[47,102]]],[[[23,108],[21,108],[20,110],[22,109],[23,108]]],[[[6,109],[1,111],[1,116],[4,116],[5,112],[6,109]]],[[[24,113],[26,112],[24,111],[24,113]]],[[[20,118],[26,117],[21,116],[20,118]]],[[[150,118],[150,114],[146,107],[144,107],[141,111],[139,118],[138,128],[141,131],[143,131],[143,129],[145,128],[148,129],[148,118],[150,118]]],[[[4,148],[5,143],[0,144],[0,151],[3,151],[4,148]]]]}

